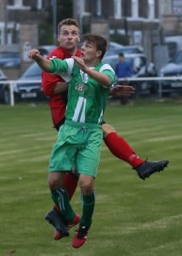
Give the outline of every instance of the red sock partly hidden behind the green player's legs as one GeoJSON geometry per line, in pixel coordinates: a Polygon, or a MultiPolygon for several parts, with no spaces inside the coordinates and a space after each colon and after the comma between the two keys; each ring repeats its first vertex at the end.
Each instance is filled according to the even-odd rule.
{"type": "MultiPolygon", "coordinates": [[[[71,200],[75,190],[77,189],[78,177],[71,172],[66,172],[65,177],[63,178],[63,186],[68,191],[69,199],[71,200]]],[[[60,212],[60,208],[54,205],[54,210],[60,212]]]]}

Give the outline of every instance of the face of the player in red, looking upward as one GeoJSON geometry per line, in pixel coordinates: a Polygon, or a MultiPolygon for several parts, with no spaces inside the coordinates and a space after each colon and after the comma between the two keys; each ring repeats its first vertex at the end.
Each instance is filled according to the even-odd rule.
{"type": "Polygon", "coordinates": [[[71,52],[74,52],[77,49],[77,43],[80,41],[79,30],[77,26],[61,26],[58,41],[60,42],[60,46],[71,52]]]}

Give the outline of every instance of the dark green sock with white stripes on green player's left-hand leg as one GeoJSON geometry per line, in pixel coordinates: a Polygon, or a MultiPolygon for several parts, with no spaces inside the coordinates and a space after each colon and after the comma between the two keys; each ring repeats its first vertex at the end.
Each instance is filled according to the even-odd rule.
{"type": "Polygon", "coordinates": [[[52,199],[57,207],[60,208],[61,214],[68,222],[73,221],[75,212],[73,211],[67,189],[60,187],[60,189],[51,191],[52,199]]]}

